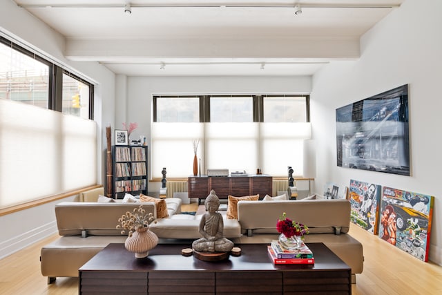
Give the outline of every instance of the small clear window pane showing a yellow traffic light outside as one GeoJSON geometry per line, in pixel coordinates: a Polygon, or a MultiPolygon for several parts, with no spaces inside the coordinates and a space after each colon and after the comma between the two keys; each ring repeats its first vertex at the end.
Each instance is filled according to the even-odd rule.
{"type": "Polygon", "coordinates": [[[89,119],[89,86],[63,74],[63,113],[89,119]]]}

